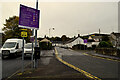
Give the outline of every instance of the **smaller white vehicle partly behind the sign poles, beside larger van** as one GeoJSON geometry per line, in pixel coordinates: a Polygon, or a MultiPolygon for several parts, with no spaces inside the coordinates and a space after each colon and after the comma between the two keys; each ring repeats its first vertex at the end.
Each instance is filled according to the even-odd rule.
{"type": "MultiPolygon", "coordinates": [[[[33,43],[33,54],[34,54],[34,46],[35,44],[33,43]]],[[[31,57],[31,55],[32,55],[32,43],[27,43],[24,46],[24,56],[31,57]]]]}

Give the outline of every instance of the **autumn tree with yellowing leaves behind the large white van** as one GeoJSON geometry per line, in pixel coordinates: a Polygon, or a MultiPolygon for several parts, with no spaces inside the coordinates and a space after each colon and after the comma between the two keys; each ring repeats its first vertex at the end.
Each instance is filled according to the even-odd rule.
{"type": "MultiPolygon", "coordinates": [[[[6,23],[4,24],[3,31],[5,34],[5,40],[8,38],[22,38],[21,37],[21,29],[18,27],[19,23],[19,17],[13,16],[9,17],[9,19],[6,19],[6,23]]],[[[30,36],[32,35],[32,31],[30,29],[27,29],[28,37],[25,38],[27,42],[30,41],[30,36]]]]}

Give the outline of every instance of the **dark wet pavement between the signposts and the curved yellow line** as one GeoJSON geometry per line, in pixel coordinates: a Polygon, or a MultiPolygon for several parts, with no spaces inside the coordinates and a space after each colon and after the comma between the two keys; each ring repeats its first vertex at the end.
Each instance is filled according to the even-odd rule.
{"type": "Polygon", "coordinates": [[[88,79],[82,73],[59,62],[53,54],[53,50],[42,51],[41,58],[38,61],[38,68],[30,68],[29,65],[25,68],[25,72],[21,74],[18,72],[7,80],[63,80],[69,78],[70,80],[88,79]]]}

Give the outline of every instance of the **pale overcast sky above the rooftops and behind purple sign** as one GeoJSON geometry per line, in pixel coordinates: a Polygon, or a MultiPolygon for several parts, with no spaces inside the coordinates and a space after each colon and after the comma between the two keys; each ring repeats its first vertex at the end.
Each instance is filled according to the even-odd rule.
{"type": "MultiPolygon", "coordinates": [[[[20,4],[35,8],[35,2],[1,2],[0,28],[5,19],[19,15],[20,4]]],[[[40,28],[38,36],[72,37],[77,34],[118,31],[117,2],[39,2],[40,28]],[[55,28],[55,30],[52,30],[55,28]]]]}

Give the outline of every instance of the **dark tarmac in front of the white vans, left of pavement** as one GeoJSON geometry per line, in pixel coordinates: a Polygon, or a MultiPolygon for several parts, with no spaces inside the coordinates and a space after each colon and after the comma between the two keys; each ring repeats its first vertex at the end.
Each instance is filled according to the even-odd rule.
{"type": "MultiPolygon", "coordinates": [[[[2,78],[10,77],[18,70],[22,70],[21,57],[0,59],[2,62],[2,78]]],[[[24,60],[24,65],[30,63],[30,58],[24,60]]]]}

